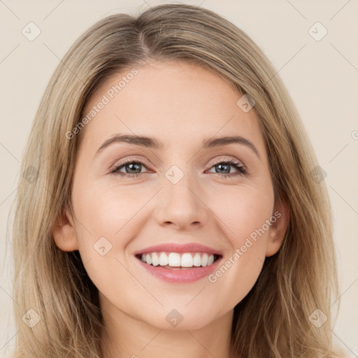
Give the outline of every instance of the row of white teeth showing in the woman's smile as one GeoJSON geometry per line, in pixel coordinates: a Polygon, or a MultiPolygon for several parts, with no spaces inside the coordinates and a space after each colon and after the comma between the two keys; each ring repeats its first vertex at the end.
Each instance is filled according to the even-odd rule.
{"type": "Polygon", "coordinates": [[[206,252],[151,252],[143,254],[143,262],[152,266],[171,266],[171,267],[200,267],[209,266],[214,262],[214,255],[208,255],[206,252]]]}

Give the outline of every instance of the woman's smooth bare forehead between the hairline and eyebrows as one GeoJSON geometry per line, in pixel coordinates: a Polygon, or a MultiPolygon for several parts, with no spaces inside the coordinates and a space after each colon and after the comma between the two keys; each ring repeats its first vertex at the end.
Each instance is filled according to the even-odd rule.
{"type": "Polygon", "coordinates": [[[85,137],[98,147],[99,141],[125,132],[160,138],[168,148],[238,134],[260,147],[257,117],[254,110],[245,113],[237,105],[241,96],[203,66],[170,61],[129,67],[113,74],[88,101],[85,137]]]}

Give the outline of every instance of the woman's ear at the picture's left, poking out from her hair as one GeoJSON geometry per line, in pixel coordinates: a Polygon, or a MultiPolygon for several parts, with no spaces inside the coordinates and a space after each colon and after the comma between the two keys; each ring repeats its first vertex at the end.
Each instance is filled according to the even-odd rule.
{"type": "Polygon", "coordinates": [[[78,240],[74,220],[69,210],[59,214],[52,226],[55,243],[62,251],[78,250],[78,240]]]}

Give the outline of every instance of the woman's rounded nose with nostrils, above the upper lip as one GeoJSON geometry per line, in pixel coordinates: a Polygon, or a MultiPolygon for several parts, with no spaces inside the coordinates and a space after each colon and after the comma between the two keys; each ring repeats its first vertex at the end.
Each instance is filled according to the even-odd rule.
{"type": "Polygon", "coordinates": [[[161,226],[173,226],[178,230],[190,230],[203,226],[209,217],[203,190],[189,175],[173,184],[164,178],[163,189],[157,200],[155,219],[161,226]]]}

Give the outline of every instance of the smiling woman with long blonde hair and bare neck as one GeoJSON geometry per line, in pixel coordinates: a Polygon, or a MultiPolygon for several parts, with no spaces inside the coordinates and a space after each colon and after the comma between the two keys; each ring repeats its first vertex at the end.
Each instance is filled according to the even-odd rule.
{"type": "Polygon", "coordinates": [[[222,17],[161,5],[94,24],[22,170],[14,357],[343,357],[317,159],[273,66],[222,17]]]}

